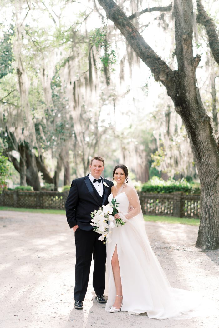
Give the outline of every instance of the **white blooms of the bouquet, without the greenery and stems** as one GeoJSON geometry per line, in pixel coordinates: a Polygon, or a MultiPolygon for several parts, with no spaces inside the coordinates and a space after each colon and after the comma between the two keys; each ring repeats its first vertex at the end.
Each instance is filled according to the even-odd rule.
{"type": "Polygon", "coordinates": [[[94,229],[98,234],[101,234],[98,239],[102,240],[104,244],[112,241],[110,238],[110,230],[107,230],[115,227],[112,213],[113,206],[111,204],[107,204],[102,205],[98,210],[95,210],[91,214],[91,225],[94,226],[94,229]]]}

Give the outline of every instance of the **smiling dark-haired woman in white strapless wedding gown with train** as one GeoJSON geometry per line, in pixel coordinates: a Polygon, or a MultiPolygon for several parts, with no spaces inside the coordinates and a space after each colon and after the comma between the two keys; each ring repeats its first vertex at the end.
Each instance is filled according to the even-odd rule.
{"type": "Polygon", "coordinates": [[[136,190],[127,185],[128,170],[117,165],[113,170],[108,201],[119,203],[114,218],[126,219],[124,225],[112,229],[112,242],[107,244],[109,291],[106,311],[147,312],[149,318],[184,319],[197,316],[197,296],[182,289],[171,288],[167,277],[151,249],[145,232],[143,215],[136,190]],[[133,207],[129,211],[130,207],[133,207]]]}

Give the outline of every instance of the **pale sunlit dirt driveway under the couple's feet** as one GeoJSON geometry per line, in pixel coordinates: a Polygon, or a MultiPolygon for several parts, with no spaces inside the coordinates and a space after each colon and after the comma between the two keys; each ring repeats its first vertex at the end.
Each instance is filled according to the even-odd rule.
{"type": "MultiPolygon", "coordinates": [[[[198,227],[146,222],[152,248],[173,287],[218,302],[219,251],[194,247],[198,227]]],[[[217,314],[187,320],[107,313],[89,281],[84,310],[73,308],[74,232],[64,215],[0,211],[0,327],[218,328],[217,314]]],[[[93,269],[93,268],[92,268],[93,269]]],[[[92,271],[92,270],[91,270],[92,271]]]]}

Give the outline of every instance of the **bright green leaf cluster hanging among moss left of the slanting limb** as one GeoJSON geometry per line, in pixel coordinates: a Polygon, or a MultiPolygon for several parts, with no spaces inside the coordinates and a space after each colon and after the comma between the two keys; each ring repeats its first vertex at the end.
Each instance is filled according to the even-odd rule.
{"type": "Polygon", "coordinates": [[[103,50],[100,61],[105,67],[111,66],[111,70],[113,71],[112,65],[116,63],[116,52],[107,41],[107,27],[104,26],[102,29],[95,29],[91,33],[90,43],[91,45],[95,45],[97,50],[103,50]]]}

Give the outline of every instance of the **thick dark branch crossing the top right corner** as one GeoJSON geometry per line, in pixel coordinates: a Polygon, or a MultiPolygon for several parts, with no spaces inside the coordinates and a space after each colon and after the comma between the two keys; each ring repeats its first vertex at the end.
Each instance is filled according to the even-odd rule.
{"type": "Polygon", "coordinates": [[[208,16],[205,11],[201,0],[197,0],[197,23],[203,25],[205,27],[206,33],[208,35],[208,43],[214,60],[219,65],[219,39],[216,31],[216,26],[211,17],[208,16]]]}

